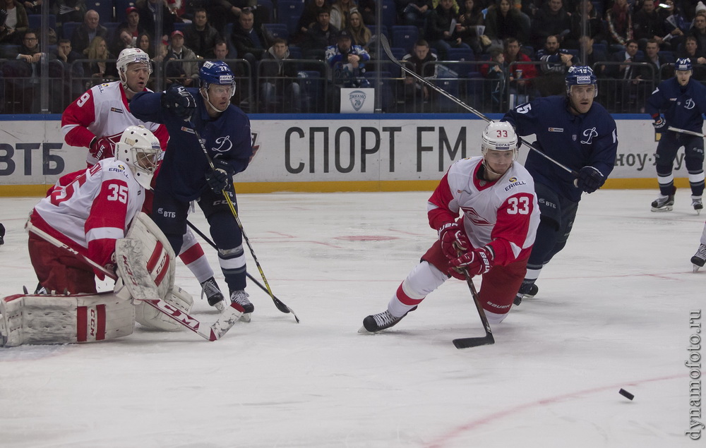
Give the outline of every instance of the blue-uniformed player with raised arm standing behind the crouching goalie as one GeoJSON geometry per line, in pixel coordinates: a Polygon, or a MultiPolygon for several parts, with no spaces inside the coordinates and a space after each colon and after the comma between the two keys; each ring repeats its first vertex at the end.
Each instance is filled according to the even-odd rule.
{"type": "MultiPolygon", "coordinates": [[[[206,61],[198,74],[200,88],[173,86],[167,92],[140,92],[130,109],[138,119],[164,123],[169,143],[157,175],[152,219],[179,253],[186,232],[189,202],[196,200],[210,225],[218,248],[218,261],[232,301],[245,310],[249,320],[253,305],[245,292],[246,267],[243,235],[222,190],[236,204],[232,176],[244,171],[253,155],[250,120],[230,104],[235,77],[222,61],[206,61]],[[211,169],[194,129],[203,139],[211,169]]],[[[236,205],[237,207],[237,205],[236,205]]],[[[223,301],[209,303],[219,310],[223,301]]]]}

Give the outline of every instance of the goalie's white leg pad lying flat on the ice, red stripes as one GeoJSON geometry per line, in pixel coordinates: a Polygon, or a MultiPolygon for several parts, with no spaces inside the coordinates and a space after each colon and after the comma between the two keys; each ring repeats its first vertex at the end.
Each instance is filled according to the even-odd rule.
{"type": "Polygon", "coordinates": [[[0,300],[0,343],[73,344],[132,334],[135,307],[114,293],[8,296],[0,300]]]}

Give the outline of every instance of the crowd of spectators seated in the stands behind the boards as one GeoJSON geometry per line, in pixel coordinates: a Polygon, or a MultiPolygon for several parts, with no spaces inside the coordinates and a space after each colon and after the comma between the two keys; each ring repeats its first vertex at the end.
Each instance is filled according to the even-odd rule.
{"type": "Polygon", "coordinates": [[[609,87],[599,85],[603,95],[616,93],[605,104],[614,112],[642,111],[677,57],[689,57],[694,78],[706,81],[701,1],[330,1],[108,0],[106,8],[105,0],[0,0],[0,108],[39,111],[32,91],[49,66],[51,90],[62,93],[50,107],[60,113],[86,88],[116,79],[116,56],[129,47],[148,52],[162,75],[150,80],[152,89],[193,85],[203,61],[229,61],[241,78],[234,102],[249,112],[313,111],[311,102],[323,100],[307,89],[335,111],[340,87],[369,86],[376,71],[391,87],[383,92],[390,111],[438,101],[429,87],[384,65],[377,33],[397,59],[454,95],[468,97],[481,85],[474,101],[486,111],[561,93],[564,73],[576,64],[594,68],[609,87]],[[51,11],[47,32],[38,26],[43,1],[51,11]],[[306,77],[323,87],[302,82],[306,77]]]}

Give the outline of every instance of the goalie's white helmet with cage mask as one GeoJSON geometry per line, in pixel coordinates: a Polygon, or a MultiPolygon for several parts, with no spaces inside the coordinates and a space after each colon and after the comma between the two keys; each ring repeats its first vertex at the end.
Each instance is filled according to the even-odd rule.
{"type": "Polygon", "coordinates": [[[115,145],[115,158],[125,162],[138,183],[148,189],[161,155],[160,140],[143,126],[128,126],[115,145]]]}

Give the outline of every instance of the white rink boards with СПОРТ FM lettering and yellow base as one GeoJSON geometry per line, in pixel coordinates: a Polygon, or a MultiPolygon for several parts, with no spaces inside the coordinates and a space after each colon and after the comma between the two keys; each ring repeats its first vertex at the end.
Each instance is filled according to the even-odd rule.
{"type": "MultiPolygon", "coordinates": [[[[618,157],[606,188],[657,188],[652,121],[646,114],[615,118],[618,157]]],[[[63,143],[59,115],[0,120],[1,196],[44,195],[57,178],[85,167],[85,148],[63,143]]],[[[236,188],[239,193],[431,190],[450,164],[480,155],[485,124],[470,114],[252,114],[256,157],[236,176],[236,188]]],[[[520,150],[520,162],[527,151],[520,150]]],[[[688,186],[683,151],[674,176],[676,186],[688,186]]]]}

